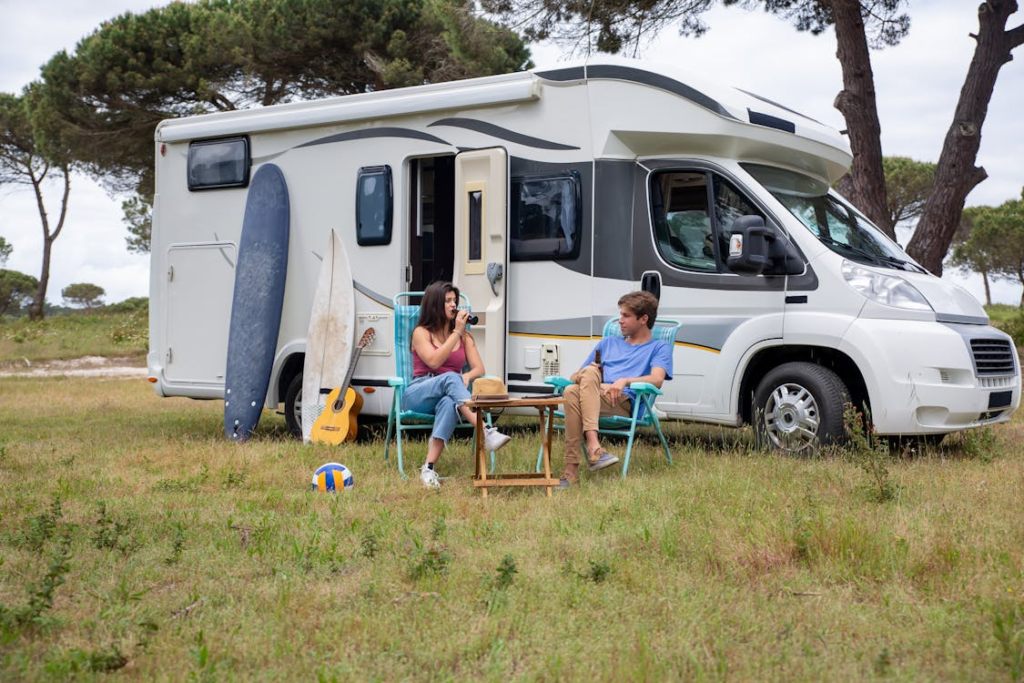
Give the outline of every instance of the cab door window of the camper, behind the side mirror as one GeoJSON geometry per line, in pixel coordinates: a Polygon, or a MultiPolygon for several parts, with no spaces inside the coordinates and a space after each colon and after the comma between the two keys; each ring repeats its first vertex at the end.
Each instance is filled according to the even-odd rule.
{"type": "Polygon", "coordinates": [[[736,218],[764,217],[732,183],[703,171],[655,174],[650,211],[654,244],[662,257],[680,268],[706,272],[723,270],[722,254],[736,218]]]}

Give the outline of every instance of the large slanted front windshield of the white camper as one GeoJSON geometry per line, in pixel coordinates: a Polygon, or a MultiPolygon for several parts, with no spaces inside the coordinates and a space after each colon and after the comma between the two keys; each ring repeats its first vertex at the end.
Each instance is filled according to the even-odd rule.
{"type": "Polygon", "coordinates": [[[820,180],[760,164],[743,164],[765,189],[822,244],[851,261],[926,272],[899,245],[820,180]]]}

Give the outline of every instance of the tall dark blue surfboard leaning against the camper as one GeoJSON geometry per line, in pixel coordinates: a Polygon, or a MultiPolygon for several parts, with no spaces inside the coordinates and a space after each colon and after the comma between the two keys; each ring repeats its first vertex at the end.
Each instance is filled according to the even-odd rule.
{"type": "Polygon", "coordinates": [[[234,298],[224,372],[224,434],[249,438],[259,424],[273,356],[288,270],[288,185],[273,164],[256,171],[234,265],[234,298]]]}

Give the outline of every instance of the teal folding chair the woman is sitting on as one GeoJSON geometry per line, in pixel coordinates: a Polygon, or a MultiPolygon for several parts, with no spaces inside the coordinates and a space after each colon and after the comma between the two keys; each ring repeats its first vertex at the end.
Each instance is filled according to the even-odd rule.
{"type": "MultiPolygon", "coordinates": [[[[434,415],[432,413],[417,413],[407,411],[401,407],[401,399],[406,393],[406,387],[413,381],[413,330],[420,318],[420,307],[409,303],[413,298],[423,296],[423,292],[400,292],[394,295],[392,304],[394,307],[394,357],[396,376],[388,380],[388,385],[393,389],[391,398],[391,410],[387,415],[387,437],[384,440],[384,461],[388,460],[388,447],[391,444],[391,433],[395,434],[395,443],[398,452],[398,472],[402,478],[406,477],[406,470],[402,467],[401,457],[401,433],[409,430],[432,429],[434,426],[434,415]]],[[[460,294],[462,305],[460,308],[469,309],[469,299],[460,294]]],[[[487,424],[490,424],[490,416],[486,416],[487,424]]],[[[471,425],[459,417],[458,428],[471,427],[471,425]]],[[[490,454],[490,470],[495,469],[495,454],[490,454]]]]}

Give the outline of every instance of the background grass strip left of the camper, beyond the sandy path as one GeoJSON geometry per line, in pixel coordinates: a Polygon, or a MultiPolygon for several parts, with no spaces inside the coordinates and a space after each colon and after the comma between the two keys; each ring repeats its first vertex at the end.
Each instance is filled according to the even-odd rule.
{"type": "Polygon", "coordinates": [[[145,308],[50,315],[39,323],[0,317],[0,368],[85,355],[142,357],[148,345],[145,308]]]}

